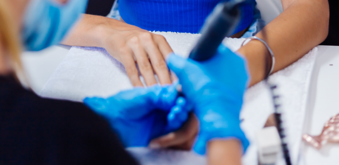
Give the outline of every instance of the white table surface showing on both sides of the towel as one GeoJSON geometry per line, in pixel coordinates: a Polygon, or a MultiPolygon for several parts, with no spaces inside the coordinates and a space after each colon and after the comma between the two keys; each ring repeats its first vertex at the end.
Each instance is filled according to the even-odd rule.
{"type": "MultiPolygon", "coordinates": [[[[24,67],[36,93],[40,92],[69,49],[70,47],[67,46],[54,46],[39,53],[24,53],[24,67]]],[[[339,76],[337,75],[339,75],[339,47],[318,46],[310,85],[305,133],[319,134],[326,120],[339,113],[339,76]]],[[[320,150],[307,145],[301,149],[306,164],[339,164],[337,158],[339,144],[324,145],[320,150]]]]}

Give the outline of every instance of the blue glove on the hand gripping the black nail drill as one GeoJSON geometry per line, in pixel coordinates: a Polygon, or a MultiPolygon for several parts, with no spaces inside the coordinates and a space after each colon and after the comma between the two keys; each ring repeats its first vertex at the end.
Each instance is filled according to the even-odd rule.
{"type": "Polygon", "coordinates": [[[168,56],[166,62],[178,76],[183,93],[194,105],[200,121],[194,150],[205,154],[208,141],[235,138],[242,142],[245,152],[249,141],[239,119],[248,81],[245,60],[221,45],[213,58],[203,62],[175,54],[168,56]]]}

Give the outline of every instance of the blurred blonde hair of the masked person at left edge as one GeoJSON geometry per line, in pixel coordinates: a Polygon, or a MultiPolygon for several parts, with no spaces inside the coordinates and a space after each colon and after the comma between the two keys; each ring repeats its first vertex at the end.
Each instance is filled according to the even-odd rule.
{"type": "Polygon", "coordinates": [[[4,0],[0,0],[0,41],[6,51],[6,56],[11,61],[11,66],[18,74],[22,73],[21,42],[19,38],[19,27],[13,22],[9,6],[4,0]]]}

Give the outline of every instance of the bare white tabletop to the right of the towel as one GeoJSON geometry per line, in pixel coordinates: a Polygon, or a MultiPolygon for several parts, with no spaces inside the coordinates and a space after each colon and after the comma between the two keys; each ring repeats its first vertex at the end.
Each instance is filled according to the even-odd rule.
{"type": "MultiPolygon", "coordinates": [[[[309,100],[305,132],[320,134],[323,124],[339,113],[339,47],[318,46],[309,100]]],[[[320,150],[303,148],[306,164],[338,164],[339,144],[326,144],[320,150]]]]}

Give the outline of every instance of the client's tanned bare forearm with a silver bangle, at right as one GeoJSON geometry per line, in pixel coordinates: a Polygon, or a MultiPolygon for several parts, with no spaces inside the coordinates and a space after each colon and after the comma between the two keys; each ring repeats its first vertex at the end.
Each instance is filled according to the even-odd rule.
{"type": "MultiPolygon", "coordinates": [[[[320,44],[328,33],[327,0],[282,2],[284,12],[256,35],[265,40],[274,53],[276,63],[273,72],[300,59],[320,44]]],[[[250,86],[263,80],[267,74],[267,66],[271,66],[270,55],[265,46],[252,40],[238,52],[247,58],[251,75],[250,86]]]]}

